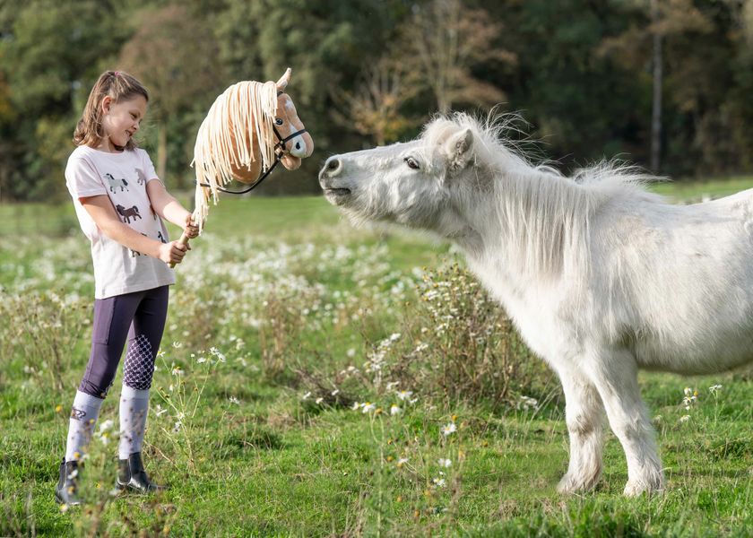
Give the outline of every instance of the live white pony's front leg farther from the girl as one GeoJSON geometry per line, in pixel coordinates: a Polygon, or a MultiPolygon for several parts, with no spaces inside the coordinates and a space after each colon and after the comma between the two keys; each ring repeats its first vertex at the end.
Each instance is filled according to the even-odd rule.
{"type": "Polygon", "coordinates": [[[653,428],[638,388],[636,360],[624,350],[602,352],[586,365],[602,396],[611,430],[628,460],[628,483],[623,493],[635,497],[662,490],[664,473],[653,440],[653,428]]]}

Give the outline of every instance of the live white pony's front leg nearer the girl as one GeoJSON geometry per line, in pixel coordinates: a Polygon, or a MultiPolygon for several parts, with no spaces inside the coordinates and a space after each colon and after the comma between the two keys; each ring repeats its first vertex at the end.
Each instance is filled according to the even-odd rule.
{"type": "Polygon", "coordinates": [[[565,391],[570,463],[557,490],[560,493],[593,490],[602,476],[602,398],[580,372],[560,372],[559,378],[565,391]]]}

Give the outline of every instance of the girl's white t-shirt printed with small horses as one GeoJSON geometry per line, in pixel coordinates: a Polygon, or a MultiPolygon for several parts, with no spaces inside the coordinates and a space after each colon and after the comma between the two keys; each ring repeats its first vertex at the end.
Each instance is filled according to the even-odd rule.
{"type": "Polygon", "coordinates": [[[108,195],[121,221],[144,236],[167,243],[168,231],[146,194],[146,184],[153,180],[160,179],[149,155],[141,149],[108,153],[82,145],[68,158],[65,185],[74,199],[81,229],[91,240],[96,299],[175,283],[175,274],[165,262],[109,239],[79,201],[108,195]]]}

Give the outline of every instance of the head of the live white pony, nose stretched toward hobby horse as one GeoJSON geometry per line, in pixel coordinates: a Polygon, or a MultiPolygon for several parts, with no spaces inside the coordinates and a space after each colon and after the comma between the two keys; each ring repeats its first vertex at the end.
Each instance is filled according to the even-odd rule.
{"type": "Polygon", "coordinates": [[[355,223],[388,221],[454,236],[466,228],[459,206],[489,187],[477,165],[484,135],[471,117],[439,117],[411,142],[333,155],[319,183],[355,223]]]}

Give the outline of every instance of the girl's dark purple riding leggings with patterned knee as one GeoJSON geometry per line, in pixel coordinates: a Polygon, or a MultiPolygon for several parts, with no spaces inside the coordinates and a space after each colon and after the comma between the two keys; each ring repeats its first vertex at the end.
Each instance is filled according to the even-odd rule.
{"type": "Polygon", "coordinates": [[[125,352],[123,384],[138,390],[151,387],[154,357],[160,349],[168,314],[169,286],[94,299],[91,356],[79,390],[98,398],[108,395],[117,364],[125,352]]]}

